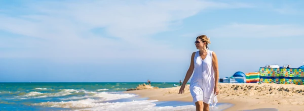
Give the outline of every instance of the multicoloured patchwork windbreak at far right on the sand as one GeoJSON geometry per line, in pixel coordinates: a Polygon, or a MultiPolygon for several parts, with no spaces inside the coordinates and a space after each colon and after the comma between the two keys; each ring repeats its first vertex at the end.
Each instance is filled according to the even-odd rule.
{"type": "Polygon", "coordinates": [[[299,68],[260,68],[259,73],[259,84],[304,84],[304,66],[299,68]]]}

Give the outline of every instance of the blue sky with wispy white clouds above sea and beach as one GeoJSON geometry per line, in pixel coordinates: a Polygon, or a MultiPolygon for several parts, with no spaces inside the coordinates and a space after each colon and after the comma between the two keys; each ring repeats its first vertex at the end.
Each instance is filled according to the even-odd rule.
{"type": "Polygon", "coordinates": [[[0,1],[1,82],[178,82],[195,38],[220,77],[304,65],[303,1],[0,1]]]}

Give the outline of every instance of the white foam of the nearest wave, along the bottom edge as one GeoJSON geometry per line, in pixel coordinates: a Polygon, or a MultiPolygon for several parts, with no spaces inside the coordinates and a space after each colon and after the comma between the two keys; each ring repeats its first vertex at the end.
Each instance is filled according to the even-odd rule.
{"type": "Polygon", "coordinates": [[[78,101],[42,102],[36,105],[50,107],[78,108],[75,110],[195,110],[194,105],[184,106],[156,106],[158,100],[136,100],[129,102],[106,102],[98,103],[94,99],[83,99],[78,101]],[[81,109],[79,109],[81,108],[81,109]]]}

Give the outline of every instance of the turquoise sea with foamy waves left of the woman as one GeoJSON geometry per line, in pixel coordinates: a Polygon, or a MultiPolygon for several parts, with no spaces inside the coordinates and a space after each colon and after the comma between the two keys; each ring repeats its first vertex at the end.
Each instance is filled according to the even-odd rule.
{"type": "MultiPolygon", "coordinates": [[[[124,93],[143,83],[5,82],[0,83],[0,110],[195,110],[192,102],[147,100],[124,93]]],[[[159,82],[151,86],[174,84],[179,85],[159,82]]]]}

